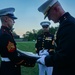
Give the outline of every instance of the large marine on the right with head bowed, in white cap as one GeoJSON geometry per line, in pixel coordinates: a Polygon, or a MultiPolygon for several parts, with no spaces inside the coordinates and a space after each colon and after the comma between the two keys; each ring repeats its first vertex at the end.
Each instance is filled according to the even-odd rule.
{"type": "Polygon", "coordinates": [[[59,22],[59,28],[55,52],[37,62],[53,66],[52,75],[75,75],[75,18],[65,12],[57,0],[47,0],[38,10],[54,23],[59,22]]]}

